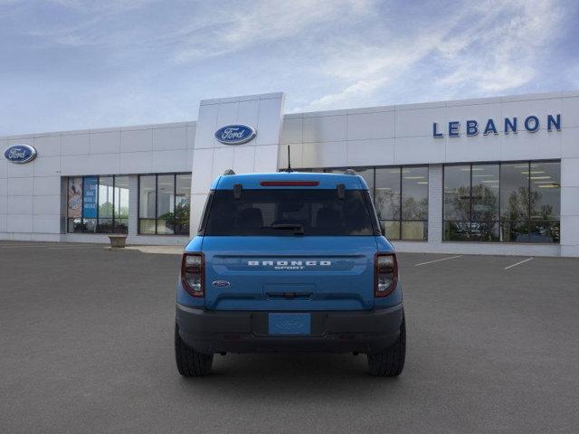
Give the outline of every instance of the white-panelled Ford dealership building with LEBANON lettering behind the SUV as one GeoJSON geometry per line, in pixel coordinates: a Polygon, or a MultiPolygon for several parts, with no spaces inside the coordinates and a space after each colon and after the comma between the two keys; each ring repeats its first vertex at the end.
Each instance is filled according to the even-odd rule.
{"type": "MultiPolygon", "coordinates": [[[[180,244],[227,169],[365,178],[397,250],[579,257],[579,91],[0,137],[0,240],[180,244]]],[[[192,110],[193,111],[193,110],[192,110]]]]}

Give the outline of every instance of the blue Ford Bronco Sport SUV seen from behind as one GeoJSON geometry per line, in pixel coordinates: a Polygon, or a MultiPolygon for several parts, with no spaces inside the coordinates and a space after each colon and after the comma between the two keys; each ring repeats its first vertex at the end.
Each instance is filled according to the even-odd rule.
{"type": "Polygon", "coordinates": [[[177,282],[179,373],[214,354],[367,354],[368,371],[403,371],[406,333],[394,248],[364,179],[275,173],[214,181],[177,282]]]}

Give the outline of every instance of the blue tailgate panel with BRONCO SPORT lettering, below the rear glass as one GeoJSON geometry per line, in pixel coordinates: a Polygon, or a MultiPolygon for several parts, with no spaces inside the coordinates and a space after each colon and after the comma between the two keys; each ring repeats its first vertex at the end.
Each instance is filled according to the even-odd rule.
{"type": "Polygon", "coordinates": [[[374,307],[374,236],[204,237],[210,310],[374,307]]]}

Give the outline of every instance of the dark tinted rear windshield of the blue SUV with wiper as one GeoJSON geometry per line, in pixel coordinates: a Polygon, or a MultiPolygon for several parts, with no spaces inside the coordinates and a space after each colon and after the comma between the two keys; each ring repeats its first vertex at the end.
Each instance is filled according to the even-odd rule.
{"type": "Polygon", "coordinates": [[[205,210],[204,235],[374,235],[368,192],[346,190],[215,190],[205,210]]]}

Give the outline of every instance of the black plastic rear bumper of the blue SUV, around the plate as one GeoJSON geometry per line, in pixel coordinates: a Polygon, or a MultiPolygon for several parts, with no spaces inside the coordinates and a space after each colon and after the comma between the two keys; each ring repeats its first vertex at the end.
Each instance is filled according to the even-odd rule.
{"type": "Polygon", "coordinates": [[[207,311],[177,304],[179,335],[200,353],[384,351],[400,335],[403,305],[311,314],[310,335],[269,335],[269,312],[207,311]]]}

